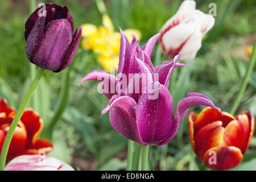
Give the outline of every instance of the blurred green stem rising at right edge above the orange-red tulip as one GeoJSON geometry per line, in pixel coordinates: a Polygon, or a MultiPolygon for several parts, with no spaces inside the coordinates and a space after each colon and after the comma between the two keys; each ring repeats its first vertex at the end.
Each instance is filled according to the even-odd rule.
{"type": "Polygon", "coordinates": [[[255,60],[256,60],[256,40],[254,42],[253,53],[252,53],[251,58],[250,58],[249,66],[247,67],[245,77],[243,77],[241,88],[240,88],[239,92],[237,93],[237,96],[236,96],[236,98],[235,98],[235,100],[234,100],[234,102],[231,106],[231,109],[230,109],[230,114],[232,114],[232,115],[235,114],[235,112],[237,110],[237,107],[240,104],[243,93],[245,92],[246,86],[248,84],[251,72],[253,72],[253,68],[254,68],[254,65],[255,65],[255,60]]]}

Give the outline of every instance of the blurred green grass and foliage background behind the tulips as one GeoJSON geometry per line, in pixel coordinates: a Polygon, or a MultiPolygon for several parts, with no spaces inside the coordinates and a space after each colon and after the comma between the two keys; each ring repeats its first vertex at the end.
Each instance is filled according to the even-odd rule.
{"type": "MultiPolygon", "coordinates": [[[[101,14],[93,0],[40,2],[68,6],[75,27],[83,23],[101,24],[101,14]]],[[[199,92],[207,95],[222,110],[228,111],[248,65],[243,56],[244,49],[253,44],[253,34],[255,39],[256,1],[196,2],[197,9],[204,13],[208,13],[209,3],[216,3],[216,24],[205,37],[195,61],[188,61],[191,66],[175,70],[171,77],[170,92],[175,104],[185,97],[187,92],[199,92]]],[[[160,30],[164,22],[176,13],[180,3],[179,0],[105,1],[115,30],[118,30],[118,27],[141,30],[141,44],[160,30]]],[[[28,1],[0,1],[0,97],[7,98],[14,107],[18,107],[23,93],[26,92],[26,84],[31,79],[31,66],[26,58],[24,40],[24,23],[28,16],[28,1]]],[[[152,55],[154,64],[160,64],[167,59],[159,51],[156,46],[152,55]]],[[[87,73],[101,69],[96,60],[97,55],[92,51],[81,48],[77,51],[69,76],[71,85],[68,106],[55,127],[55,149],[50,155],[71,163],[76,169],[124,169],[127,140],[113,130],[108,114],[100,118],[108,99],[97,92],[96,81],[87,81],[78,86],[81,78],[87,73]],[[75,160],[77,158],[79,162],[75,160]]],[[[41,100],[40,96],[37,97],[34,103],[39,104],[36,108],[40,109],[36,111],[42,115],[46,126],[49,125],[56,109],[63,85],[61,80],[66,72],[46,71],[42,88],[38,88],[42,97],[41,100]]],[[[250,109],[256,115],[255,91],[254,68],[237,114],[250,109]]],[[[30,106],[34,106],[32,101],[30,106]]],[[[201,109],[203,106],[193,108],[197,112],[201,109]]],[[[191,150],[186,119],[181,121],[178,134],[168,145],[150,147],[149,169],[207,170],[191,150]]],[[[245,159],[236,169],[255,169],[255,160],[254,138],[245,159]]]]}

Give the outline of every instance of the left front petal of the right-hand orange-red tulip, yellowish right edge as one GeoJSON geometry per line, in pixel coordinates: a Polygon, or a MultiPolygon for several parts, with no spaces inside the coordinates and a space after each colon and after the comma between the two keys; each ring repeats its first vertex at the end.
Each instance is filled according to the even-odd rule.
{"type": "Polygon", "coordinates": [[[202,127],[194,136],[196,154],[203,159],[205,152],[212,147],[221,147],[224,127],[221,121],[215,121],[202,127]]]}

